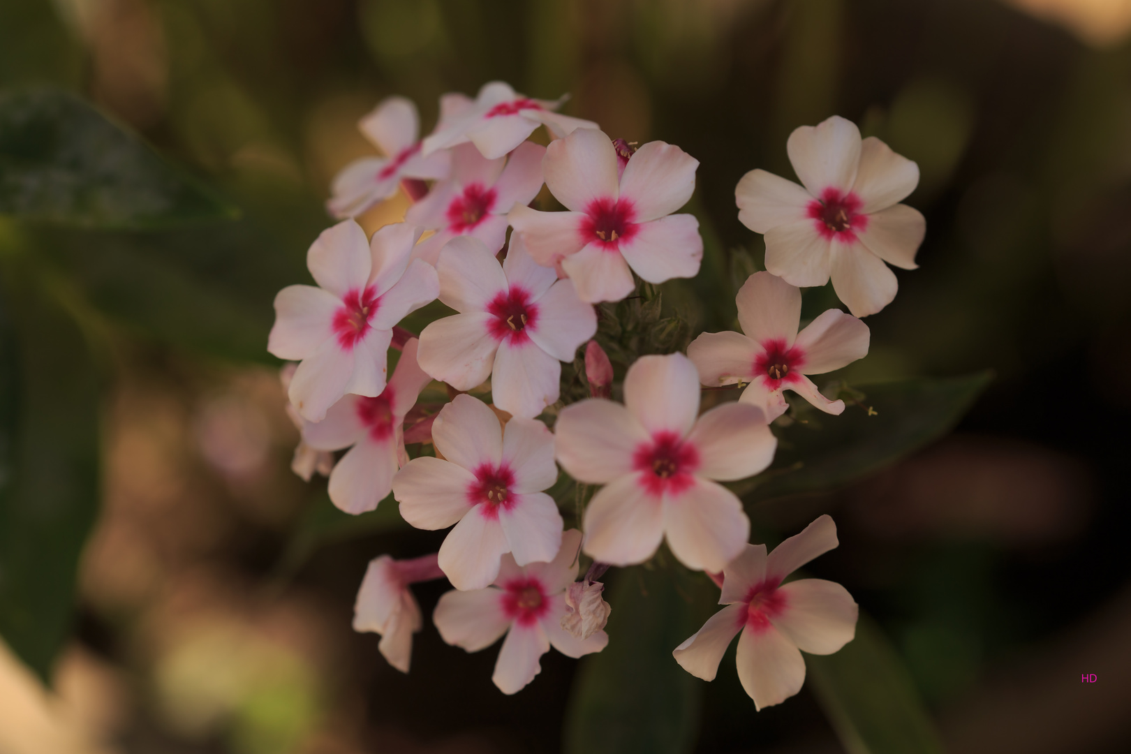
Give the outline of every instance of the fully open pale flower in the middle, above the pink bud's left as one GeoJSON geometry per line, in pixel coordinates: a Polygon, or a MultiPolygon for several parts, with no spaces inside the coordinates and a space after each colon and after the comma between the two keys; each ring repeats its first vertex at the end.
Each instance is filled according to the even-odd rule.
{"type": "Polygon", "coordinates": [[[570,280],[539,267],[518,239],[502,265],[475,239],[454,239],[437,265],[440,301],[458,314],[421,332],[421,366],[457,390],[491,375],[494,405],[533,418],[558,400],[561,362],[597,331],[570,280]]]}

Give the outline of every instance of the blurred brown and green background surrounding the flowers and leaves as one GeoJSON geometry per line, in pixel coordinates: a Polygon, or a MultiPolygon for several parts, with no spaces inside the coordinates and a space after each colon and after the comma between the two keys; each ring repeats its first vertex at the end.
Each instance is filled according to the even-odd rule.
{"type": "MultiPolygon", "coordinates": [[[[733,189],[753,167],[792,176],[795,127],[840,114],[918,163],[921,269],[844,376],[996,379],[950,436],[762,521],[834,513],[841,546],[813,571],[878,619],[950,751],[1131,749],[1129,32],[1128,0],[3,0],[0,90],[81,94],[242,218],[0,217],[2,257],[80,315],[104,396],[75,634],[50,694],[0,650],[0,752],[560,751],[575,661],[545,656],[506,697],[494,650],[426,623],[403,676],[351,631],[366,561],[439,538],[296,538],[325,482],[288,470],[264,350],[330,179],[372,149],[357,119],[403,94],[431,128],[440,94],[492,79],[680,145],[719,246],[754,259],[733,189]]],[[[425,614],[441,591],[418,589],[425,614]]],[[[756,714],[723,665],[698,752],[844,751],[808,687],[756,714]]]]}

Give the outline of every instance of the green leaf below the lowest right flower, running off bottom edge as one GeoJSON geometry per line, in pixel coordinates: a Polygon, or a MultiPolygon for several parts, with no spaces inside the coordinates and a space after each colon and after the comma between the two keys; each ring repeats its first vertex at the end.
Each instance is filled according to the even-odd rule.
{"type": "Polygon", "coordinates": [[[942,754],[903,660],[866,615],[835,655],[806,655],[809,683],[848,754],[942,754]]]}

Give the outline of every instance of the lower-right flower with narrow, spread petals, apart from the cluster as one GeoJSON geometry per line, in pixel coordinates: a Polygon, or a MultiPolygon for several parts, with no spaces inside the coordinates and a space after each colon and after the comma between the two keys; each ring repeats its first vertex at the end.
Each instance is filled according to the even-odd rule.
{"type": "Polygon", "coordinates": [[[754,707],[784,702],[801,691],[805,661],[801,651],[831,655],[856,635],[857,606],[848,591],[823,579],[782,580],[837,546],[837,527],[822,515],[766,556],[766,545],[746,545],[724,570],[716,613],[672,655],[684,670],[714,681],[734,635],[739,639],[739,679],[754,707]]]}

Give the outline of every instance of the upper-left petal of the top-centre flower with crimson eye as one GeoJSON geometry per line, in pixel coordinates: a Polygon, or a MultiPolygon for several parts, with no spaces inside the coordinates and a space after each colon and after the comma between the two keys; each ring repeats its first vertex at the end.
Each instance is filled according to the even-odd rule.
{"type": "Polygon", "coordinates": [[[584,213],[595,199],[616,201],[616,150],[602,131],[575,130],[546,147],[546,187],[567,209],[584,213]]]}

